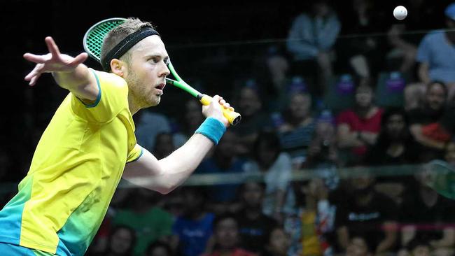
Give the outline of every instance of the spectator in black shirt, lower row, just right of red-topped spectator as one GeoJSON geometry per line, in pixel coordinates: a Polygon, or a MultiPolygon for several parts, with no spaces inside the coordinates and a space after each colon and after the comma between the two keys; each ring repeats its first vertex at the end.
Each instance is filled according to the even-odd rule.
{"type": "Polygon", "coordinates": [[[246,180],[240,191],[242,208],[237,213],[240,244],[248,251],[260,253],[277,225],[276,220],[262,213],[265,183],[246,180]]]}

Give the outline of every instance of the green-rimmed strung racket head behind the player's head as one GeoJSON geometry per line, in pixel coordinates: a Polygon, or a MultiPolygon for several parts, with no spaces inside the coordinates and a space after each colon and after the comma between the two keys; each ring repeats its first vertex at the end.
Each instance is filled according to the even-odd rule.
{"type": "Polygon", "coordinates": [[[90,29],[85,32],[83,38],[85,52],[93,59],[96,59],[97,62],[100,62],[104,37],[112,31],[112,29],[125,22],[125,20],[127,19],[124,17],[111,17],[97,22],[90,27],[90,29]]]}

